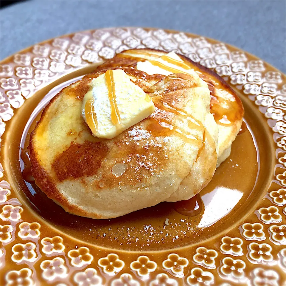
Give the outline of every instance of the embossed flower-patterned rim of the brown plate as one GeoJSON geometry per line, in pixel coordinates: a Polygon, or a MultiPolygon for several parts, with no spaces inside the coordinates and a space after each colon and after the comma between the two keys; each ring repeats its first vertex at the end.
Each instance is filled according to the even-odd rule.
{"type": "Polygon", "coordinates": [[[285,283],[286,78],[246,52],[197,35],[145,28],[90,30],[37,44],[1,62],[1,149],[9,144],[9,120],[37,91],[124,49],[144,47],[175,51],[213,69],[265,115],[276,150],[265,150],[275,153],[275,162],[269,162],[273,180],[263,198],[233,229],[199,244],[161,251],[111,250],[58,234],[37,216],[31,220],[29,204],[18,195],[21,190],[7,179],[1,151],[0,285],[285,283]]]}

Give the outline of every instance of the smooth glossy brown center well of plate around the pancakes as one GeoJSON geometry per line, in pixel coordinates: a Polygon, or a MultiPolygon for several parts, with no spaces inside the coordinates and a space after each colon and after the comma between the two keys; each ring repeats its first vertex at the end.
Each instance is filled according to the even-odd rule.
{"type": "MultiPolygon", "coordinates": [[[[268,186],[272,142],[262,114],[246,100],[246,130],[237,136],[231,156],[216,170],[212,181],[200,192],[201,211],[195,216],[178,213],[174,203],[160,203],[110,220],[95,220],[66,213],[48,199],[34,183],[24,181],[25,164],[21,148],[27,150],[29,134],[39,120],[41,111],[60,89],[89,72],[90,67],[71,73],[57,83],[38,91],[15,112],[4,133],[4,164],[9,182],[29,207],[38,215],[42,226],[53,226],[75,239],[108,248],[130,250],[165,250],[195,244],[235,226],[255,206],[268,186]],[[56,86],[55,86],[56,85],[56,86]],[[53,86],[55,86],[53,88],[53,86]]],[[[144,199],[144,198],[142,198],[144,199]]]]}

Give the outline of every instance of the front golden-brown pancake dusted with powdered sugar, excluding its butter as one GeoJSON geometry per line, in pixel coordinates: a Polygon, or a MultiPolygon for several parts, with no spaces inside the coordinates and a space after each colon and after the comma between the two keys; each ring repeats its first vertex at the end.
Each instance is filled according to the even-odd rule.
{"type": "Polygon", "coordinates": [[[63,88],[30,136],[35,183],[67,212],[97,219],[193,197],[217,162],[207,84],[195,72],[166,77],[112,69],[124,70],[150,94],[155,112],[113,139],[98,139],[81,106],[92,79],[106,69],[63,88]]]}

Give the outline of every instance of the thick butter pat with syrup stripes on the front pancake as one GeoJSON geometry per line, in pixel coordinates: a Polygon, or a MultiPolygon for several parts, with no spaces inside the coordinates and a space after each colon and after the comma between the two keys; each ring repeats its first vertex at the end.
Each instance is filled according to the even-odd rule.
{"type": "Polygon", "coordinates": [[[125,71],[108,70],[92,80],[83,98],[82,117],[98,138],[111,139],[155,111],[151,97],[125,71]]]}

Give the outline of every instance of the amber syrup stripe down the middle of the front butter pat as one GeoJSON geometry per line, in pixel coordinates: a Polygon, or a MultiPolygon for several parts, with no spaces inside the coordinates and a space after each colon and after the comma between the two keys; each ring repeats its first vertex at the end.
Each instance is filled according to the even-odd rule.
{"type": "Polygon", "coordinates": [[[108,88],[108,97],[111,106],[111,121],[114,125],[120,124],[119,110],[115,99],[115,84],[113,78],[113,71],[109,69],[105,73],[105,81],[108,88]]]}

